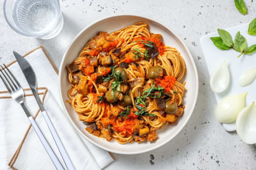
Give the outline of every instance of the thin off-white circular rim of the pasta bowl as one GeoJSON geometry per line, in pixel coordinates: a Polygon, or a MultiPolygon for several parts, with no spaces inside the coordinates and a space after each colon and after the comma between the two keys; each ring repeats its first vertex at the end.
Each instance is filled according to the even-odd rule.
{"type": "Polygon", "coordinates": [[[156,148],[159,148],[160,146],[163,146],[164,144],[166,144],[167,142],[169,142],[170,140],[172,140],[174,137],[176,137],[176,135],[178,135],[178,133],[180,133],[180,131],[184,128],[184,126],[188,123],[188,120],[190,119],[193,111],[194,111],[194,108],[195,108],[195,104],[197,102],[197,96],[198,96],[198,90],[199,90],[199,79],[198,79],[198,73],[197,73],[197,68],[195,66],[195,61],[190,53],[190,50],[188,49],[188,47],[186,46],[186,44],[184,43],[184,41],[178,36],[178,34],[173,31],[171,28],[169,28],[167,25],[163,24],[162,22],[159,22],[158,20],[152,18],[152,17],[148,17],[148,16],[145,16],[145,15],[137,15],[137,14],[118,14],[118,15],[110,15],[110,16],[107,16],[107,17],[104,17],[104,18],[101,18],[99,20],[96,20],[94,22],[92,22],[91,24],[89,24],[88,26],[86,26],[85,28],[83,28],[83,30],[81,30],[77,35],[76,37],[70,42],[70,44],[68,45],[64,55],[63,55],[63,58],[61,60],[61,65],[59,67],[59,76],[58,76],[58,87],[59,87],[59,96],[60,96],[60,99],[61,99],[61,105],[63,107],[63,110],[64,110],[64,113],[65,115],[68,117],[68,119],[70,120],[70,122],[72,123],[72,125],[75,127],[76,131],[78,131],[78,133],[80,135],[82,135],[82,137],[84,137],[86,140],[88,140],[89,142],[91,142],[92,144],[106,150],[106,151],[109,151],[109,152],[113,152],[113,153],[118,153],[118,154],[123,154],[123,155],[133,155],[133,154],[139,154],[139,153],[145,153],[145,152],[149,152],[149,151],[152,151],[152,150],[155,150],[156,148]],[[76,41],[76,39],[78,39],[78,37],[80,37],[80,35],[86,31],[89,27],[93,26],[94,24],[96,24],[97,22],[100,22],[102,20],[105,20],[105,19],[108,19],[108,18],[114,18],[114,17],[121,17],[121,16],[132,16],[132,17],[141,17],[141,18],[146,18],[148,20],[152,20],[153,22],[156,22],[157,24],[160,24],[161,26],[163,26],[165,29],[167,29],[168,31],[170,31],[171,33],[173,33],[173,35],[181,42],[181,44],[184,46],[186,52],[188,53],[188,56],[192,62],[192,66],[193,66],[193,70],[195,71],[195,100],[193,102],[193,105],[192,105],[192,109],[188,115],[188,117],[186,118],[184,124],[180,127],[180,129],[178,129],[178,131],[176,131],[174,133],[174,135],[169,138],[168,140],[166,140],[165,142],[157,145],[157,146],[154,146],[154,147],[151,147],[151,148],[148,148],[146,150],[142,150],[142,151],[136,151],[136,152],[123,152],[123,151],[116,151],[116,150],[112,150],[110,148],[107,148],[105,146],[102,146],[100,144],[98,144],[97,142],[94,142],[93,140],[89,139],[86,135],[84,135],[82,133],[82,131],[80,131],[80,129],[78,129],[78,127],[75,125],[75,123],[72,121],[72,119],[70,118],[69,114],[68,114],[68,111],[66,110],[66,107],[64,105],[64,100],[63,100],[63,96],[61,94],[61,71],[62,71],[62,68],[63,68],[63,63],[64,63],[64,59],[66,57],[66,54],[68,52],[68,50],[70,49],[70,46],[74,43],[74,41],[76,41]]]}

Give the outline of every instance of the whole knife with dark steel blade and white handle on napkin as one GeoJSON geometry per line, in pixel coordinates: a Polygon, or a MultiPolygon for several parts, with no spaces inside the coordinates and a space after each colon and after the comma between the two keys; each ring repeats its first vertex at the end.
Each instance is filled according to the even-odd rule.
{"type": "Polygon", "coordinates": [[[48,126],[49,130],[51,131],[51,135],[53,136],[53,139],[59,149],[59,152],[61,153],[64,163],[66,164],[66,167],[68,168],[68,170],[75,170],[55,128],[53,127],[53,124],[51,123],[51,120],[46,112],[46,109],[44,108],[44,105],[42,104],[42,102],[37,94],[36,74],[35,74],[33,68],[28,63],[28,61],[24,57],[22,57],[20,54],[18,54],[15,51],[13,51],[13,54],[14,54],[15,58],[17,59],[17,62],[19,63],[19,67],[21,68],[32,93],[34,94],[34,97],[36,99],[36,102],[38,103],[38,106],[40,107],[40,110],[42,111],[42,114],[44,116],[44,119],[46,120],[47,126],[48,126]]]}

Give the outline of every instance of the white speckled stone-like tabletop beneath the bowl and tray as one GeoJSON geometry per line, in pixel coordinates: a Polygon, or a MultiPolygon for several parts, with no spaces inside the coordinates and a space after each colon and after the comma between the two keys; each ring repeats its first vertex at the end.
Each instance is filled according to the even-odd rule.
{"type": "MultiPolygon", "coordinates": [[[[59,68],[66,47],[89,23],[115,13],[151,16],[176,31],[190,49],[199,74],[197,105],[187,126],[171,142],[139,155],[114,154],[117,161],[106,169],[253,170],[256,169],[255,146],[243,143],[236,133],[226,132],[214,116],[216,100],[210,90],[200,45],[200,38],[217,28],[226,29],[255,18],[256,1],[245,0],[245,4],[248,14],[244,16],[235,9],[233,0],[162,0],[161,3],[155,0],[144,3],[138,0],[63,0],[63,30],[50,40],[18,35],[9,28],[1,12],[0,63],[13,61],[13,50],[25,54],[43,45],[59,68]]],[[[0,6],[3,6],[2,1],[0,6]]]]}

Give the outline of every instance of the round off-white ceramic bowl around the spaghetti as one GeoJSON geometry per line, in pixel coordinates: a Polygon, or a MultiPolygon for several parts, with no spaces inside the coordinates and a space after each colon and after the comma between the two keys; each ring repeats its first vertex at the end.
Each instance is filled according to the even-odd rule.
{"type": "Polygon", "coordinates": [[[66,116],[68,116],[69,120],[78,131],[78,133],[80,133],[85,139],[109,152],[120,154],[138,154],[154,150],[163,144],[166,144],[171,139],[173,139],[186,125],[193,113],[197,100],[198,75],[190,51],[173,30],[150,17],[141,15],[115,15],[102,18],[88,25],[80,33],[78,33],[75,39],[70,43],[65,54],[63,55],[59,70],[59,94],[61,97],[64,113],[66,116]],[[115,140],[111,140],[110,142],[103,140],[102,138],[89,134],[85,130],[86,126],[82,123],[82,121],[78,120],[78,115],[72,106],[66,102],[66,100],[69,99],[67,92],[70,87],[66,66],[72,63],[72,61],[78,56],[79,52],[83,49],[83,46],[86,44],[86,42],[89,39],[95,37],[99,31],[107,31],[110,33],[138,21],[147,22],[150,26],[150,32],[160,33],[163,37],[163,42],[167,46],[175,47],[184,58],[187,67],[187,74],[184,76],[182,81],[186,81],[185,87],[187,90],[184,93],[182,102],[186,108],[184,110],[184,115],[178,118],[178,121],[175,125],[171,126],[168,124],[162,129],[157,130],[158,139],[154,142],[134,142],[133,144],[127,143],[122,145],[118,144],[115,140]]]}

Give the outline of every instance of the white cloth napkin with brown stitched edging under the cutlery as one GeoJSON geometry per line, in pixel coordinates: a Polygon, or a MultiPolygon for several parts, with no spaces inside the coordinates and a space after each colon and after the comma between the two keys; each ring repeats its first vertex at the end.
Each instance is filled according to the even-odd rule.
{"type": "MultiPolygon", "coordinates": [[[[47,59],[44,50],[38,48],[25,58],[32,65],[36,73],[41,100],[44,101],[44,107],[74,167],[77,170],[99,170],[110,164],[113,161],[110,154],[79,135],[66,115],[64,115],[60,107],[57,89],[57,72],[55,72],[47,59]]],[[[29,88],[17,62],[8,68],[18,79],[23,89],[29,88]]],[[[0,81],[0,91],[6,91],[2,81],[0,81]]],[[[31,95],[30,90],[25,91],[25,94],[25,103],[30,113],[33,116],[38,113],[35,120],[64,166],[63,159],[44,121],[42,113],[38,112],[39,107],[34,96],[31,95]]],[[[1,138],[3,137],[0,140],[0,169],[9,168],[9,163],[11,168],[17,170],[54,170],[55,166],[47,155],[34,129],[31,127],[27,130],[30,123],[23,109],[19,103],[15,102],[12,98],[6,98],[6,96],[9,96],[9,94],[0,92],[0,135],[1,138]],[[24,137],[26,131],[27,136],[24,137]]]]}

